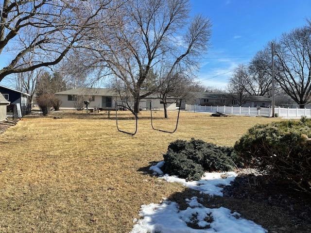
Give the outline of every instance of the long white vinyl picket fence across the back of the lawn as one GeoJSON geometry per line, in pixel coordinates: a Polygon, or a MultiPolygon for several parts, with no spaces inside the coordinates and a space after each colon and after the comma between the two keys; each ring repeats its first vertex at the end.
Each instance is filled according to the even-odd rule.
{"type": "MultiPolygon", "coordinates": [[[[195,112],[206,112],[206,113],[226,113],[235,115],[248,115],[248,116],[272,116],[271,108],[256,107],[233,107],[233,106],[201,106],[201,105],[190,105],[186,104],[186,110],[195,112]]],[[[281,117],[311,117],[311,109],[309,108],[275,108],[275,113],[281,117]]]]}

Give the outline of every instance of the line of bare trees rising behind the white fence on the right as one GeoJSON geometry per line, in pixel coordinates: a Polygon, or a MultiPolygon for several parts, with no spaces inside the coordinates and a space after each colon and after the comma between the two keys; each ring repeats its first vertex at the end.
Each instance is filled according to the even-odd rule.
{"type": "MultiPolygon", "coordinates": [[[[274,43],[276,94],[287,95],[301,108],[311,102],[311,22],[283,33],[274,43]]],[[[240,64],[229,79],[228,91],[239,103],[249,95],[272,96],[271,42],[249,64],[240,64]]]]}

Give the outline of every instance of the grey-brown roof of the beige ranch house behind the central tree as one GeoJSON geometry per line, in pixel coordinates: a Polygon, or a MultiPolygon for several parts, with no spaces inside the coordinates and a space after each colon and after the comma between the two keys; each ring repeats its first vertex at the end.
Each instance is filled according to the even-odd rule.
{"type": "Polygon", "coordinates": [[[90,88],[90,87],[70,89],[67,91],[60,91],[55,94],[56,95],[90,95],[90,96],[116,96],[117,95],[116,91],[110,88],[90,88]]]}

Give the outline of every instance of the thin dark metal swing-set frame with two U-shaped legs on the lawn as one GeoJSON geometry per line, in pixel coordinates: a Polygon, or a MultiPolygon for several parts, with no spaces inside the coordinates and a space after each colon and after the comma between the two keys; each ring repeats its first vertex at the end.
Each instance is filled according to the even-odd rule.
{"type": "MultiPolygon", "coordinates": [[[[157,130],[157,131],[160,131],[160,132],[164,132],[164,133],[175,133],[175,131],[177,130],[177,127],[178,127],[178,121],[179,121],[179,113],[180,113],[180,106],[181,106],[181,100],[183,99],[180,99],[180,98],[165,98],[165,100],[179,100],[179,106],[178,106],[178,114],[177,114],[177,120],[176,120],[176,125],[175,125],[175,129],[173,131],[167,131],[167,130],[162,130],[162,129],[156,129],[153,125],[153,116],[152,116],[152,100],[163,100],[163,98],[135,98],[135,102],[136,102],[136,106],[138,107],[138,103],[140,102],[140,100],[146,100],[144,102],[149,102],[150,103],[150,116],[151,116],[151,127],[153,130],[157,130]],[[147,101],[149,100],[149,101],[147,101]]],[[[126,133],[126,134],[130,134],[132,136],[134,136],[136,133],[137,133],[137,130],[138,130],[138,114],[135,113],[135,131],[134,133],[131,133],[131,132],[127,132],[127,131],[123,131],[119,128],[119,125],[118,125],[118,107],[122,107],[122,108],[128,108],[126,107],[125,105],[123,104],[118,104],[118,101],[120,102],[124,102],[123,100],[116,100],[115,102],[115,108],[116,108],[116,124],[117,124],[117,129],[119,132],[121,133],[126,133]]],[[[127,102],[127,100],[126,100],[127,102]]],[[[175,101],[173,101],[175,102],[175,101]]],[[[173,103],[173,102],[167,102],[167,103],[173,103]]]]}

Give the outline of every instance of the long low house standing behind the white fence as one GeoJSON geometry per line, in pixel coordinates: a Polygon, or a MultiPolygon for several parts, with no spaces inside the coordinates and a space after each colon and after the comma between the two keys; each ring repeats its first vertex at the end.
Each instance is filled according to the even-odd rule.
{"type": "MultiPolygon", "coordinates": [[[[271,100],[264,96],[248,96],[245,99],[242,107],[269,107],[271,105],[271,100]]],[[[183,101],[182,109],[185,108],[185,103],[201,106],[239,106],[234,96],[228,93],[192,92],[183,101]]]]}

